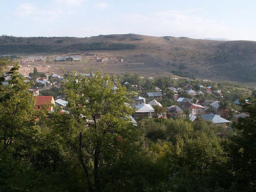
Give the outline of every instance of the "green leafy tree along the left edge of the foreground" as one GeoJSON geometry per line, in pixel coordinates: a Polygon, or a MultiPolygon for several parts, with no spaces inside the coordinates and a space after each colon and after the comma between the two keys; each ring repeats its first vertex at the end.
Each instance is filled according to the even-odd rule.
{"type": "Polygon", "coordinates": [[[17,184],[14,178],[20,178],[18,172],[23,160],[28,158],[37,132],[35,99],[27,91],[30,83],[19,75],[18,62],[2,60],[3,65],[6,63],[14,67],[7,72],[11,75],[9,84],[0,83],[0,188],[4,191],[17,184]]]}

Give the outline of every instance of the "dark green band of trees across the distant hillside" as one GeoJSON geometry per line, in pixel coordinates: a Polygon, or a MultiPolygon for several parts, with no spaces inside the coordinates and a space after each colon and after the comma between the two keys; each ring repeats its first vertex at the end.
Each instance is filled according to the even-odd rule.
{"type": "Polygon", "coordinates": [[[104,43],[93,42],[90,44],[72,44],[69,46],[52,46],[52,45],[12,45],[0,44],[0,54],[11,53],[53,53],[53,52],[69,52],[69,51],[88,51],[88,50],[121,50],[121,49],[135,49],[133,44],[122,43],[104,43]]]}

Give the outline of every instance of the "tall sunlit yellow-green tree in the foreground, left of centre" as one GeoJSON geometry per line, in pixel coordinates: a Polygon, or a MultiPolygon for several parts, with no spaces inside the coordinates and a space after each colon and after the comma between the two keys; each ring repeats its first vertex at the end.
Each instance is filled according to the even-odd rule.
{"type": "Polygon", "coordinates": [[[89,191],[102,190],[102,169],[113,166],[136,138],[126,88],[113,81],[101,71],[91,77],[73,72],[63,85],[69,114],[57,109],[49,114],[54,134],[83,171],[89,191]]]}

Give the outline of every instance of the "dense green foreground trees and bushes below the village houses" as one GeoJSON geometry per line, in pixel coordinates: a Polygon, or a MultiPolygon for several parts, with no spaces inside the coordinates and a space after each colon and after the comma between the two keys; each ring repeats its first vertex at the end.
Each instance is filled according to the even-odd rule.
{"type": "Polygon", "coordinates": [[[0,60],[1,77],[14,66],[0,84],[0,191],[256,190],[255,98],[240,99],[250,116],[229,132],[202,119],[134,126],[132,92],[116,77],[73,72],[63,82],[69,113],[36,111],[31,84],[12,62],[0,60]]]}

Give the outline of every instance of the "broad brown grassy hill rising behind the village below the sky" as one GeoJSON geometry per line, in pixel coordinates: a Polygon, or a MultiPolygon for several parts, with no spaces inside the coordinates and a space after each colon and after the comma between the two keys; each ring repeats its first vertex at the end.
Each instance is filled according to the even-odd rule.
{"type": "Polygon", "coordinates": [[[128,61],[125,65],[115,66],[113,72],[153,76],[175,74],[218,81],[256,82],[255,41],[136,34],[85,38],[0,36],[0,54],[84,53],[91,50],[128,61]]]}

